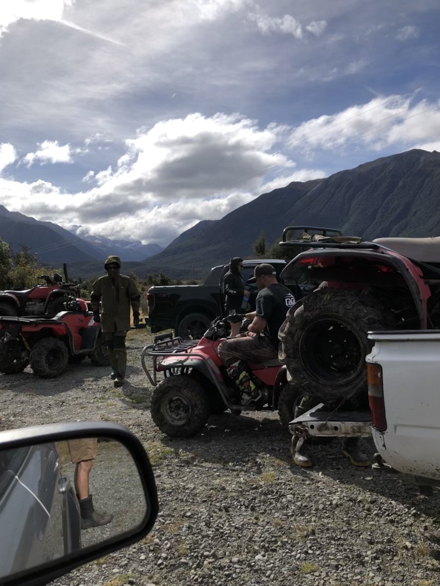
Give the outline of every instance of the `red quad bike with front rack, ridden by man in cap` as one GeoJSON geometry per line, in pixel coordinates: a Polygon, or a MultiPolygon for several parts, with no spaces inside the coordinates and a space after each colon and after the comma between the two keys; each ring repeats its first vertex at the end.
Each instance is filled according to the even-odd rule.
{"type": "MultiPolygon", "coordinates": [[[[200,340],[172,338],[172,334],[156,336],[154,343],[145,346],[141,362],[153,388],[151,417],[154,423],[170,437],[191,437],[205,426],[209,415],[227,409],[234,415],[242,411],[290,412],[290,403],[297,400],[296,390],[286,379],[286,369],[278,360],[261,364],[248,363],[253,375],[262,383],[262,397],[255,403],[243,406],[239,390],[222,365],[216,347],[226,338],[226,322],[216,318],[200,340]],[[153,373],[145,363],[153,359],[153,373]],[[157,374],[163,373],[158,381],[157,374]],[[289,408],[286,409],[286,404],[289,408]]],[[[286,427],[289,419],[283,422],[286,427]]]]}

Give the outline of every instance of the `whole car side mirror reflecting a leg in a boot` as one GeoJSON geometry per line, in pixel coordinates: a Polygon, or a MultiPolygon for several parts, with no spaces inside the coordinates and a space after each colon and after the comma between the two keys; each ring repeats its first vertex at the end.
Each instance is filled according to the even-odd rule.
{"type": "Polygon", "coordinates": [[[0,433],[2,586],[47,584],[128,546],[150,532],[157,513],[148,456],[123,426],[0,433]]]}

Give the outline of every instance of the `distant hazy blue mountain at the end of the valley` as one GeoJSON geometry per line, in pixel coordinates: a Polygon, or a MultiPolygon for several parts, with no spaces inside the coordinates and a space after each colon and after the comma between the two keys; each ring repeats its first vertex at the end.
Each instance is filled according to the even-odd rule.
{"type": "Polygon", "coordinates": [[[69,231],[98,248],[101,251],[100,258],[116,254],[127,261],[141,261],[163,250],[163,247],[155,243],[142,244],[139,240],[113,240],[104,236],[82,234],[82,226],[71,226],[69,231]]]}

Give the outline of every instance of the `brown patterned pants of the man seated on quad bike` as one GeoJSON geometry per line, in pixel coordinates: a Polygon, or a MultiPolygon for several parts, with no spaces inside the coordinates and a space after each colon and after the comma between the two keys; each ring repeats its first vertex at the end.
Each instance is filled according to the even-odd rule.
{"type": "Polygon", "coordinates": [[[247,336],[228,338],[217,347],[217,353],[226,367],[237,360],[243,362],[266,362],[278,356],[278,350],[267,336],[247,336]]]}

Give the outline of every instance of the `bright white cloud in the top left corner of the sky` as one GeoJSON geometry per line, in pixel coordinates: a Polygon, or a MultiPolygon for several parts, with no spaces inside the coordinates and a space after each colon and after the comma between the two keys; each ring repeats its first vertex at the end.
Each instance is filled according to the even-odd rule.
{"type": "Polygon", "coordinates": [[[0,37],[9,26],[20,19],[60,21],[67,6],[75,0],[13,0],[2,2],[0,11],[0,37]]]}

